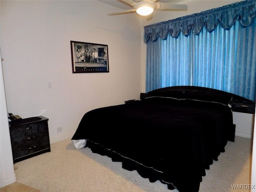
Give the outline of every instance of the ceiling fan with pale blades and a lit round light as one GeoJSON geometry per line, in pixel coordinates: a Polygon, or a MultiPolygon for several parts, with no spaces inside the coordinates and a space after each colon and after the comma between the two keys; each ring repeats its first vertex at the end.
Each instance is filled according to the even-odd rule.
{"type": "Polygon", "coordinates": [[[137,12],[142,16],[147,16],[151,14],[154,10],[170,10],[170,11],[188,10],[187,5],[156,2],[158,0],[138,0],[136,2],[132,0],[118,0],[118,1],[124,4],[128,4],[128,6],[132,6],[133,9],[114,12],[108,15],[119,15],[119,14],[126,14],[130,12],[137,12]]]}

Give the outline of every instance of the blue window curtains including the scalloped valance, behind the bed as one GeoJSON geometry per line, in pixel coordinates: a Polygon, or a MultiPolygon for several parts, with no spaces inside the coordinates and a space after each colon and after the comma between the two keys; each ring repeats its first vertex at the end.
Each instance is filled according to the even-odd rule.
{"type": "Polygon", "coordinates": [[[146,91],[177,85],[255,100],[256,1],[242,1],[144,27],[146,91]]]}

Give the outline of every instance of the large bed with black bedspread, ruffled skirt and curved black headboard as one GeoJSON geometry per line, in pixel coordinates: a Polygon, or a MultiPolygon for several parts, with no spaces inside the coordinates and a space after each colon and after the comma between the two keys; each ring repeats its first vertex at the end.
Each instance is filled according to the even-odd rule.
{"type": "Polygon", "coordinates": [[[234,142],[232,110],[254,112],[254,104],[211,88],[160,88],[141,100],[86,112],[71,140],[150,182],[198,192],[205,170],[234,142]]]}

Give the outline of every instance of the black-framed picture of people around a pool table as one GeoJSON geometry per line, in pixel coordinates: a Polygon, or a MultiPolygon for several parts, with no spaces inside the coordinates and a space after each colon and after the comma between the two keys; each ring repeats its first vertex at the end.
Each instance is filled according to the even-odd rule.
{"type": "Polygon", "coordinates": [[[72,72],[109,72],[108,45],[70,41],[72,72]]]}

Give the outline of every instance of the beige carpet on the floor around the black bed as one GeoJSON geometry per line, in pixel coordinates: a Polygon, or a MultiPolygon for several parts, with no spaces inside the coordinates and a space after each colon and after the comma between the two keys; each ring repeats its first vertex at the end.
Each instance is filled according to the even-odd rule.
{"type": "MultiPolygon", "coordinates": [[[[250,184],[252,140],[228,142],[200,184],[200,192],[249,192],[232,184],[250,184]]],[[[70,140],[51,144],[51,152],[14,164],[17,182],[43,192],[177,192],[159,181],[150,183],[89,148],[76,150],[70,140]]]]}

